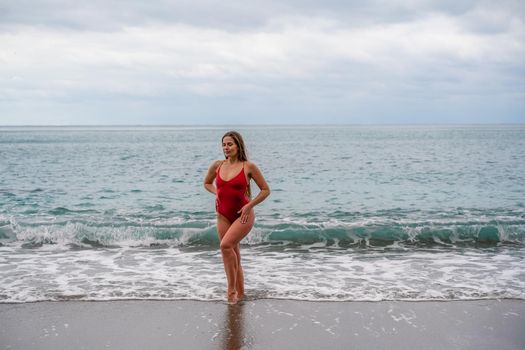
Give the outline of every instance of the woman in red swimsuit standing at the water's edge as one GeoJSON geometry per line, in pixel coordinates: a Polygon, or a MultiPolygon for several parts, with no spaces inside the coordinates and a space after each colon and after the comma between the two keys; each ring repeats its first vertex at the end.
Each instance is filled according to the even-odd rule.
{"type": "Polygon", "coordinates": [[[253,207],[270,195],[270,188],[257,166],[248,161],[244,141],[238,132],[224,134],[222,150],[226,160],[212,163],[204,179],[204,187],[216,194],[217,233],[228,281],[228,302],[235,304],[244,297],[239,242],[253,227],[253,207]],[[250,199],[251,179],[261,190],[254,199],[250,199]]]}

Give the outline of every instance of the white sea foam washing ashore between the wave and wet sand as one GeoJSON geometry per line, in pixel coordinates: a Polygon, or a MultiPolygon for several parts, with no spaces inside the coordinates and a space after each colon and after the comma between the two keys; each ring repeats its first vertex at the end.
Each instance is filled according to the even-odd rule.
{"type": "MultiPolygon", "coordinates": [[[[298,300],[525,299],[521,250],[242,248],[248,295],[298,300]]],[[[223,300],[219,251],[0,247],[0,302],[223,300]]]]}

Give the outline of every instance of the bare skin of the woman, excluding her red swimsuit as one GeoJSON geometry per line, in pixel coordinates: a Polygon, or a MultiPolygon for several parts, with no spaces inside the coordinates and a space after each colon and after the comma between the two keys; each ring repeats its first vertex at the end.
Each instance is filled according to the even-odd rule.
{"type": "MultiPolygon", "coordinates": [[[[243,167],[243,162],[238,159],[239,148],[232,137],[224,137],[222,148],[227,159],[225,161],[218,160],[213,162],[204,178],[204,187],[213,194],[217,193],[213,182],[219,166],[220,176],[225,181],[229,181],[239,174],[243,167]]],[[[253,179],[259,187],[260,192],[257,197],[250,200],[238,211],[240,217],[234,222],[230,222],[226,217],[217,213],[217,233],[220,241],[224,271],[226,272],[228,282],[227,297],[228,302],[232,304],[244,297],[244,274],[241,266],[239,243],[250,232],[255,222],[253,207],[261,203],[270,194],[270,188],[266,180],[253,162],[244,162],[244,173],[247,177],[247,183],[253,179]]]]}

